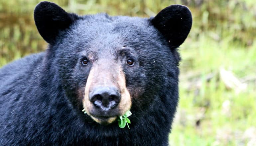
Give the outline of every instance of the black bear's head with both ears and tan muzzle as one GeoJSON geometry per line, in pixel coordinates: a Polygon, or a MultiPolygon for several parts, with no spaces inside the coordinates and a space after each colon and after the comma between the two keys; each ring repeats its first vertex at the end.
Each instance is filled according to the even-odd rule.
{"type": "Polygon", "coordinates": [[[171,100],[166,102],[176,109],[177,47],[192,26],[186,6],[172,5],[147,19],[77,16],[54,3],[41,2],[34,18],[50,44],[44,61],[55,66],[67,98],[78,111],[85,109],[105,125],[129,109],[136,123],[159,100],[171,100]]]}

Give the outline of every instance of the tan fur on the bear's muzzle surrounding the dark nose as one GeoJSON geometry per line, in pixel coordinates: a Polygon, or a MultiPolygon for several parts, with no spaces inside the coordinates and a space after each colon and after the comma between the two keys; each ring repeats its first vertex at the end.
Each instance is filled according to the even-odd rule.
{"type": "MultiPolygon", "coordinates": [[[[114,66],[114,65],[113,65],[114,66]]],[[[96,64],[93,66],[90,70],[89,76],[87,78],[86,86],[85,86],[85,93],[84,93],[84,99],[83,107],[85,108],[85,111],[88,115],[91,116],[91,118],[98,122],[103,123],[106,121],[101,121],[100,119],[93,117],[90,114],[90,111],[93,110],[95,107],[93,104],[89,101],[89,92],[90,89],[93,89],[94,86],[110,86],[115,85],[119,88],[121,93],[121,101],[118,104],[117,109],[119,109],[119,115],[124,115],[130,108],[131,108],[131,96],[126,88],[125,84],[125,75],[122,71],[121,66],[116,67],[115,69],[109,70],[107,67],[101,67],[99,64],[96,64]],[[118,69],[117,69],[118,68],[118,69]],[[114,77],[114,79],[113,79],[114,77]]],[[[115,121],[117,116],[109,117],[107,119],[107,123],[112,123],[115,121]]]]}

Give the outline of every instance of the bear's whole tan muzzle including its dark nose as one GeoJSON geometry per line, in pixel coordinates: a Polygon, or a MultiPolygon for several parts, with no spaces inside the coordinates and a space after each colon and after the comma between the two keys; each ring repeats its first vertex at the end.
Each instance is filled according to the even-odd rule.
{"type": "Polygon", "coordinates": [[[103,125],[116,120],[131,108],[125,75],[119,68],[92,66],[85,86],[83,107],[91,118],[103,125]]]}

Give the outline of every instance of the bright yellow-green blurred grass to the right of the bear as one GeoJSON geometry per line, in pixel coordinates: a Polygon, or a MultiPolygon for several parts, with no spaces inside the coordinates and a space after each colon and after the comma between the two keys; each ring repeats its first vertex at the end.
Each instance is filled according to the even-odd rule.
{"type": "MultiPolygon", "coordinates": [[[[254,76],[256,44],[236,46],[224,39],[216,42],[202,34],[181,46],[180,104],[170,134],[171,145],[245,145],[252,140],[245,131],[255,127],[255,79],[246,82],[247,89],[236,93],[219,79],[221,67],[238,78],[254,76]],[[191,42],[190,42],[191,41],[191,42]],[[210,81],[206,75],[214,73],[210,81]],[[195,74],[197,84],[189,74],[195,74]],[[227,104],[228,103],[228,104],[227,104]]],[[[254,135],[256,136],[256,135],[254,135]]]]}

